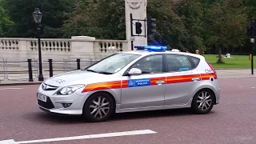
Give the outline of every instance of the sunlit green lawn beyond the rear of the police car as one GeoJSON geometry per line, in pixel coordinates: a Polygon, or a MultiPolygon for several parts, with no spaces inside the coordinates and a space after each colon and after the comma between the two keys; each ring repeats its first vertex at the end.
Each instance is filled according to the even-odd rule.
{"type": "MultiPolygon", "coordinates": [[[[205,54],[204,57],[214,68],[218,69],[250,69],[249,55],[231,55],[232,58],[222,58],[225,63],[217,63],[217,54],[205,54]]],[[[254,68],[256,68],[256,56],[254,56],[254,68]]]]}

